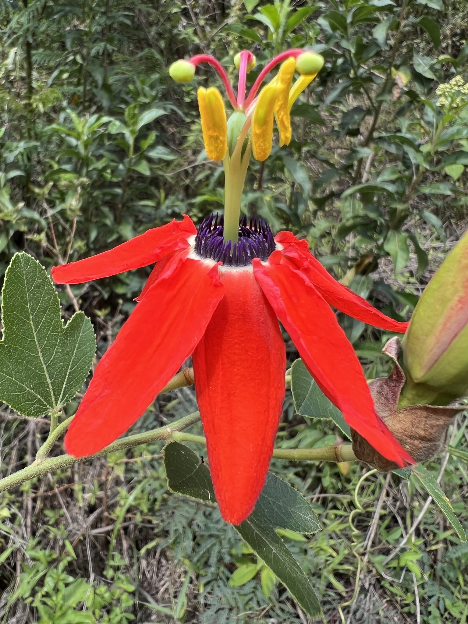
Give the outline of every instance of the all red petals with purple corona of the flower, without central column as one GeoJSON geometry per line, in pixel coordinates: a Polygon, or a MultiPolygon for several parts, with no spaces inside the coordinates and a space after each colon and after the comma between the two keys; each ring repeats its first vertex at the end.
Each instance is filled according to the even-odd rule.
{"type": "Polygon", "coordinates": [[[319,388],[387,459],[414,463],[377,416],[361,365],[330,306],[382,329],[398,323],[335,281],[290,232],[244,218],[237,241],[222,218],[198,233],[184,216],[113,250],[52,269],[77,284],[156,263],[137,306],[94,371],[65,438],[82,457],[143,414],[193,356],[195,390],[221,514],[240,524],[265,482],[285,396],[280,319],[319,388]]]}

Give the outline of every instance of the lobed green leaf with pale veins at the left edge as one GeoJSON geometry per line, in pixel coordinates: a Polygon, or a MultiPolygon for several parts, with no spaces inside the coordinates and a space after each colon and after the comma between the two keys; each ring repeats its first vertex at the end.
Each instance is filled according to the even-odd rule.
{"type": "Polygon", "coordinates": [[[77,312],[64,326],[44,267],[14,255],[2,290],[0,400],[24,416],[42,416],[70,401],[95,353],[92,324],[77,312]]]}

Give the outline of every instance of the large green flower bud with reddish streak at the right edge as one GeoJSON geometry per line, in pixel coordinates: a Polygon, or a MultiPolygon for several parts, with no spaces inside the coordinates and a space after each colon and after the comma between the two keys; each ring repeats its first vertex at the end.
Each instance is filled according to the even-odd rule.
{"type": "Polygon", "coordinates": [[[400,406],[444,405],[468,394],[468,232],[426,286],[403,349],[408,379],[400,406]]]}

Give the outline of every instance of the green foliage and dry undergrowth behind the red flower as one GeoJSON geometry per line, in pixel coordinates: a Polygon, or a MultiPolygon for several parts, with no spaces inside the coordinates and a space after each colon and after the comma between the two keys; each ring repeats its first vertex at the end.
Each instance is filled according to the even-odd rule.
{"type": "MultiPolygon", "coordinates": [[[[203,152],[196,102],[197,85],[217,84],[215,76],[201,69],[182,87],[170,82],[168,65],[210,52],[234,76],[240,49],[252,49],[259,68],[286,47],[314,46],[326,64],[293,108],[291,144],[253,163],[245,212],[305,236],[337,278],[407,318],[467,224],[466,2],[298,0],[286,9],[264,0],[4,0],[2,273],[16,251],[50,268],[182,213],[199,221],[220,210],[222,168],[203,152]],[[462,83],[440,102],[437,86],[456,75],[462,83]]],[[[59,293],[66,318],[79,306],[92,319],[98,356],[148,274],[59,293]]],[[[368,376],[386,373],[385,336],[341,320],[368,376]]],[[[290,342],[288,356],[297,357],[290,342]]],[[[161,396],[134,430],[193,409],[190,389],[161,396]]],[[[31,463],[47,422],[7,409],[1,417],[4,476],[31,463]]],[[[452,440],[461,450],[465,424],[452,440]]],[[[336,432],[323,421],[305,424],[289,394],[277,446],[324,446],[336,432]]],[[[217,510],[167,494],[160,449],[77,465],[2,495],[2,622],[306,622],[280,585],[266,598],[261,562],[217,510]]],[[[359,509],[354,489],[364,465],[272,467],[313,501],[323,525],[313,539],[284,539],[313,578],[327,622],[343,621],[338,606],[353,598],[359,557],[361,583],[343,607],[345,622],[466,622],[468,549],[436,510],[381,567],[426,500],[417,482],[369,475],[359,509]],[[375,537],[355,553],[371,535],[380,496],[375,537]]],[[[443,479],[466,527],[466,462],[452,456],[443,479]]]]}

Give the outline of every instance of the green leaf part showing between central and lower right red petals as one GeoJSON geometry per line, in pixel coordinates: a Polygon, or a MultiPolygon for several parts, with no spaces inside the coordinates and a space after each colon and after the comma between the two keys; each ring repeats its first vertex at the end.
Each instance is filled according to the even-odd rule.
{"type": "Polygon", "coordinates": [[[307,418],[329,418],[351,439],[343,414],[323,394],[301,359],[296,359],[291,366],[291,391],[298,414],[307,418]]]}

